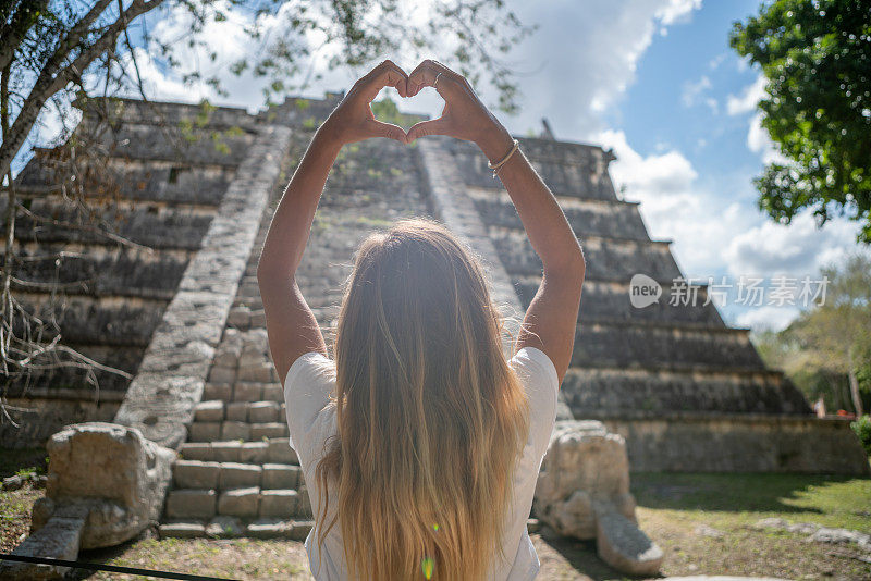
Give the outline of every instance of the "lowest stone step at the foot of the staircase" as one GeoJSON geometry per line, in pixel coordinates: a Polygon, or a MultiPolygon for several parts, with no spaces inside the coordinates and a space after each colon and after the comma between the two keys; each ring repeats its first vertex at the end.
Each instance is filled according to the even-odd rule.
{"type": "Polygon", "coordinates": [[[233,539],[253,536],[256,539],[289,539],[305,541],[315,527],[314,520],[258,518],[245,522],[236,517],[217,516],[211,520],[172,520],[160,526],[161,539],[233,539]]]}

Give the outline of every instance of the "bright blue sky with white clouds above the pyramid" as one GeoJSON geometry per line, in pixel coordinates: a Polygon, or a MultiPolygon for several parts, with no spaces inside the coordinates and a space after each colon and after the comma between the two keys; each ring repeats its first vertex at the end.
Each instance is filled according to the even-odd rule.
{"type": "MultiPolygon", "coordinates": [[[[520,111],[514,116],[496,114],[514,134],[539,133],[540,120],[547,118],[559,139],[613,149],[617,159],[611,176],[618,196],[641,202],[651,237],[672,240],[685,277],[720,285],[724,296],[716,302],[728,324],[783,329],[805,302],[769,295],[777,287],[800,287],[802,280],[817,300],[824,298],[820,268],[859,249],[858,228],[835,219],[820,230],[809,213],[781,225],[757,209],[752,178],[765,162],[777,159],[777,152],[756,113],[764,78],[729,48],[728,33],[734,21],[758,12],[759,0],[506,3],[523,22],[539,26],[508,55],[518,71],[520,111]],[[741,301],[741,277],[763,279],[769,292],[764,300],[748,304],[745,295],[741,301]]],[[[184,86],[177,72],[140,52],[138,64],[152,98],[196,102],[208,97],[213,103],[250,111],[261,106],[257,82],[221,73],[221,63],[253,50],[242,32],[246,16],[232,9],[226,14],[225,22],[209,25],[205,35],[219,54],[216,71],[230,96],[217,96],[206,86],[184,86]]],[[[267,27],[278,26],[280,18],[277,15],[267,27]]],[[[185,22],[164,12],[150,16],[148,26],[169,39],[182,36],[185,22]]],[[[402,55],[384,57],[409,71],[416,64],[402,55]]],[[[204,61],[193,53],[187,58],[192,63],[204,61]]],[[[308,96],[344,90],[366,72],[327,71],[326,59],[324,53],[312,61],[323,78],[308,96]]],[[[490,87],[476,90],[486,102],[494,102],[490,87]]],[[[441,112],[433,89],[407,101],[395,89],[382,95],[391,95],[407,112],[433,118],[441,112]]],[[[582,239],[584,233],[577,234],[582,239]]]]}

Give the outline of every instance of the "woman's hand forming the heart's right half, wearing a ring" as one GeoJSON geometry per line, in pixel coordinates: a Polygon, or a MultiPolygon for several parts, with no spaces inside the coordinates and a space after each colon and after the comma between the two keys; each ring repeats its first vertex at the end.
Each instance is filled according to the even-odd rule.
{"type": "Polygon", "coordinates": [[[478,99],[463,75],[426,60],[408,75],[407,96],[414,97],[424,87],[436,88],[444,99],[444,109],[439,119],[421,121],[408,129],[408,143],[426,135],[447,135],[475,141],[491,161],[511,149],[513,139],[507,129],[478,99]]]}

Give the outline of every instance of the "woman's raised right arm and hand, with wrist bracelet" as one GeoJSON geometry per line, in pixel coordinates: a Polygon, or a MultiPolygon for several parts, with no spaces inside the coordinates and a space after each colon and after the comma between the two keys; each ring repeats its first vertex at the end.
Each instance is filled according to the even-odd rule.
{"type": "MultiPolygon", "coordinates": [[[[441,118],[412,127],[409,141],[425,135],[449,135],[474,141],[491,164],[499,163],[512,151],[511,134],[481,103],[462,75],[441,63],[424,61],[408,75],[408,96],[417,95],[424,86],[439,91],[444,99],[444,111],[441,118]]],[[[562,382],[575,344],[586,268],[584,252],[556,198],[523,151],[508,157],[498,169],[498,175],[544,267],[541,285],[526,311],[517,348],[531,346],[544,351],[562,382]]]]}

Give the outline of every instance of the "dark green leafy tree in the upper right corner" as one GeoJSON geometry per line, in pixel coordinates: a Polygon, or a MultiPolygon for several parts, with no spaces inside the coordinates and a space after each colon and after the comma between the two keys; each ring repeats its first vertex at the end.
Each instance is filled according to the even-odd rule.
{"type": "Polygon", "coordinates": [[[813,209],[859,222],[871,243],[871,9],[867,0],[775,0],[733,24],[732,47],[761,67],[762,126],[784,158],[755,180],[759,207],[788,224],[813,209]]]}

